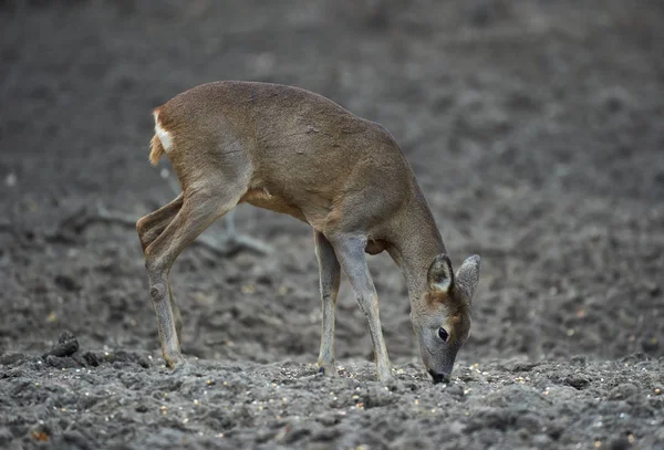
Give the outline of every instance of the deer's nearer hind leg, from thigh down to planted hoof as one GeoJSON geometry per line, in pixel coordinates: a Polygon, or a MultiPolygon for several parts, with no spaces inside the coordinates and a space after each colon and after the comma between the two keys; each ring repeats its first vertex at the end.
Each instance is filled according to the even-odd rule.
{"type": "Polygon", "coordinates": [[[157,314],[162,354],[172,368],[183,363],[184,358],[172,302],[167,300],[170,299],[168,273],[179,253],[217,218],[231,210],[246,190],[237,186],[225,188],[225,191],[203,188],[186,192],[175,218],[145,249],[145,268],[157,314]]]}

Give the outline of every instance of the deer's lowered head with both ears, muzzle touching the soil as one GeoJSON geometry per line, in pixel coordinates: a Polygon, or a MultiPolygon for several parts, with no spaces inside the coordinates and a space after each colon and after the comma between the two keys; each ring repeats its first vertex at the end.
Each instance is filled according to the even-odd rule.
{"type": "Polygon", "coordinates": [[[470,302],[479,281],[479,257],[464,261],[456,276],[446,254],[434,259],[428,290],[413,305],[411,320],[419,353],[434,383],[449,380],[457,352],[470,331],[470,302]]]}

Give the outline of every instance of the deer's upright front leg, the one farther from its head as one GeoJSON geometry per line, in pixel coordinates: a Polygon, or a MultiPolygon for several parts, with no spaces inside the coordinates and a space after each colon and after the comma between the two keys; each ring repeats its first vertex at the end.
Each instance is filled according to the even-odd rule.
{"type": "Polygon", "coordinates": [[[321,349],[319,353],[320,371],[328,376],[336,375],[334,363],[334,312],[341,269],[330,241],[319,231],[313,232],[315,255],[321,280],[321,300],[323,321],[321,327],[321,349]]]}

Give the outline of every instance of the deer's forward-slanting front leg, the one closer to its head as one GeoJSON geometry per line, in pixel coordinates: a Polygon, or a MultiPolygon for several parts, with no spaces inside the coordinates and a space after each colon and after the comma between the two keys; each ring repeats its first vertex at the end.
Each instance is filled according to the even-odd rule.
{"type": "Polygon", "coordinates": [[[355,236],[338,236],[331,242],[341,268],[353,286],[360,310],[362,310],[369,323],[378,380],[390,381],[392,379],[392,368],[385,339],[383,338],[383,329],[381,328],[378,295],[364,257],[366,240],[355,236]]]}

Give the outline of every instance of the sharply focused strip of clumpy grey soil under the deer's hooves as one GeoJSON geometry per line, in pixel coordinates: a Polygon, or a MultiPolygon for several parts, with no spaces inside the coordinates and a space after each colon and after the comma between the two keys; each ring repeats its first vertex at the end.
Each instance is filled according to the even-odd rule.
{"type": "Polygon", "coordinates": [[[53,448],[657,448],[661,360],[488,362],[433,385],[418,365],[390,386],[366,362],[336,379],[313,364],[193,362],[145,353],[3,356],[3,446],[53,448]]]}

